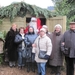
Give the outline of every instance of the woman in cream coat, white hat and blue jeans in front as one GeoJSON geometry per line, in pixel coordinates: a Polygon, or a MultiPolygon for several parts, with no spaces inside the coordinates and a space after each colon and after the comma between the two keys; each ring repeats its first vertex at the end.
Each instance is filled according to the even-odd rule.
{"type": "Polygon", "coordinates": [[[46,35],[45,28],[40,29],[40,34],[32,46],[33,46],[32,52],[35,54],[35,61],[38,67],[37,75],[46,75],[45,65],[52,52],[52,43],[50,38],[46,35]],[[38,57],[40,50],[46,51],[44,59],[38,57]]]}

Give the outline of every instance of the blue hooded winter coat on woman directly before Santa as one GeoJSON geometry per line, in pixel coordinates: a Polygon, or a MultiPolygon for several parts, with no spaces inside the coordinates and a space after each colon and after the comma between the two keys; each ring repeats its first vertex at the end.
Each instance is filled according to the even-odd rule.
{"type": "Polygon", "coordinates": [[[27,58],[27,62],[34,62],[34,55],[32,54],[32,44],[37,38],[37,34],[29,33],[25,36],[26,49],[29,50],[28,53],[31,55],[31,58],[27,58]]]}

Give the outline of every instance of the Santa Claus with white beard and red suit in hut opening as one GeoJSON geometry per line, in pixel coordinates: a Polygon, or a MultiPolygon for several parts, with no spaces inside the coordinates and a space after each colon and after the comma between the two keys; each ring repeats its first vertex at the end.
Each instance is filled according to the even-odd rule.
{"type": "Polygon", "coordinates": [[[34,32],[38,34],[40,28],[42,27],[41,20],[39,18],[32,17],[29,25],[25,28],[25,33],[28,33],[29,26],[32,26],[34,28],[34,32]]]}

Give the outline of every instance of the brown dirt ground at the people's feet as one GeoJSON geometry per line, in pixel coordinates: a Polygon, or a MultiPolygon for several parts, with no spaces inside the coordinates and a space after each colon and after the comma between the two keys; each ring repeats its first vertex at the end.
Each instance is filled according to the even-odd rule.
{"type": "MultiPolygon", "coordinates": [[[[30,71],[27,72],[26,67],[24,67],[22,70],[18,69],[18,67],[10,68],[8,65],[0,65],[0,75],[37,75],[37,69],[35,73],[30,71]]],[[[46,75],[50,74],[50,68],[46,69],[46,75]]],[[[64,71],[61,72],[61,75],[66,75],[64,71]]]]}

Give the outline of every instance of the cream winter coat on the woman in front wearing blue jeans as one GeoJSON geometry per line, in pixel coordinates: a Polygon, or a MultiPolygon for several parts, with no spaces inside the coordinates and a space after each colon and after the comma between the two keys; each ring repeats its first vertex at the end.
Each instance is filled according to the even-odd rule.
{"type": "Polygon", "coordinates": [[[39,54],[39,47],[38,47],[38,40],[39,40],[39,46],[40,50],[47,51],[47,55],[51,55],[52,52],[52,43],[51,40],[46,34],[43,37],[38,36],[37,39],[35,40],[34,44],[36,47],[33,47],[32,52],[35,53],[35,61],[36,62],[47,62],[45,59],[40,59],[38,58],[39,54]]]}

